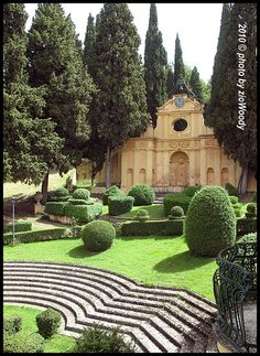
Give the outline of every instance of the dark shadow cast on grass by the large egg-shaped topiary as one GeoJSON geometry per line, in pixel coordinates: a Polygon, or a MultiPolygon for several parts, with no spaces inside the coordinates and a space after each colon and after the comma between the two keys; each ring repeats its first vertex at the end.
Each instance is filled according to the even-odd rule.
{"type": "Polygon", "coordinates": [[[161,273],[174,273],[186,270],[194,270],[207,263],[210,263],[215,258],[213,257],[194,257],[189,251],[181,252],[165,258],[156,263],[153,269],[161,273]]]}

